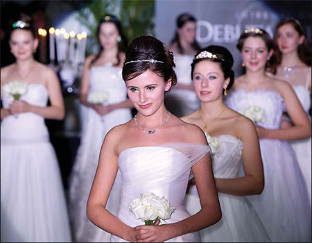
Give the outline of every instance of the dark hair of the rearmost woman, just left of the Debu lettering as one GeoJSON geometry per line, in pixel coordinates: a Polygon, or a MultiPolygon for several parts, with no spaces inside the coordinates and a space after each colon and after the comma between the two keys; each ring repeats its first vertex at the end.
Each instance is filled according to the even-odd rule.
{"type": "MultiPolygon", "coordinates": [[[[187,22],[194,22],[196,23],[196,18],[193,17],[193,15],[190,15],[187,12],[182,13],[181,15],[179,15],[179,17],[177,17],[177,28],[182,28],[184,26],[184,24],[187,24],[187,22]]],[[[181,45],[180,42],[180,37],[179,34],[177,33],[177,31],[175,31],[175,35],[173,37],[173,39],[171,40],[171,44],[173,43],[177,43],[177,50],[179,51],[180,54],[184,53],[183,47],[181,45]]],[[[193,43],[191,43],[191,47],[193,47],[194,50],[199,51],[200,50],[200,45],[198,44],[198,42],[196,40],[194,40],[193,43]]]]}

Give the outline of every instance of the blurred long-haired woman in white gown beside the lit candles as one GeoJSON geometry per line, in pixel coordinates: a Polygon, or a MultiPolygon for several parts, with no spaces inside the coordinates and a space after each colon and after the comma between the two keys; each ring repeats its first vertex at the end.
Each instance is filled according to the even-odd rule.
{"type": "MultiPolygon", "coordinates": [[[[110,234],[94,226],[86,215],[86,206],[92,181],[98,165],[103,139],[116,125],[132,119],[132,103],[127,99],[121,66],[125,53],[124,38],[119,19],[104,15],[98,24],[98,41],[101,50],[97,56],[85,61],[80,88],[80,101],[87,107],[85,124],[76,160],[69,178],[69,212],[73,226],[73,237],[77,242],[107,242],[110,234]],[[97,94],[106,97],[101,103],[92,103],[97,94]]],[[[119,178],[112,193],[108,210],[116,214],[120,201],[119,178]]]]}

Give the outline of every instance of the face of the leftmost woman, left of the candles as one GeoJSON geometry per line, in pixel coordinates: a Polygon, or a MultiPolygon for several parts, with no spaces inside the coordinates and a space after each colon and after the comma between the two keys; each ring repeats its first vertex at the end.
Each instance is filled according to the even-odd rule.
{"type": "Polygon", "coordinates": [[[34,39],[31,31],[16,29],[10,36],[10,49],[17,60],[33,57],[37,49],[38,40],[34,39]]]}

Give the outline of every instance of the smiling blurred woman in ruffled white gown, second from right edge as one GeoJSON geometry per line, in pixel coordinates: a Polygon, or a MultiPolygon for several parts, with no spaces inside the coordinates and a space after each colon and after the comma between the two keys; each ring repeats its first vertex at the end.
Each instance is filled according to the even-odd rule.
{"type": "Polygon", "coordinates": [[[287,142],[311,136],[309,118],[291,85],[265,73],[273,47],[266,31],[245,30],[237,47],[246,72],[236,78],[226,103],[257,121],[265,181],[263,192],[248,199],[272,242],[310,242],[309,196],[295,153],[287,142]],[[284,107],[293,119],[291,128],[281,128],[284,107]]]}

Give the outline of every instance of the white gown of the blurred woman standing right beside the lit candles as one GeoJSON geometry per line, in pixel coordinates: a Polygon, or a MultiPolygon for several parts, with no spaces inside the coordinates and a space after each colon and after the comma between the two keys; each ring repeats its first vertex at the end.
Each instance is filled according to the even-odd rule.
{"type": "MultiPolygon", "coordinates": [[[[92,67],[90,69],[89,92],[107,92],[105,104],[120,103],[127,99],[125,83],[119,67],[92,67]]],[[[86,215],[87,199],[98,166],[98,157],[104,137],[111,128],[132,119],[128,108],[116,109],[101,117],[87,108],[76,160],[69,177],[69,212],[73,237],[76,242],[109,242],[110,234],[94,226],[86,215]]],[[[114,215],[120,201],[119,176],[107,202],[107,209],[114,215]]]]}

